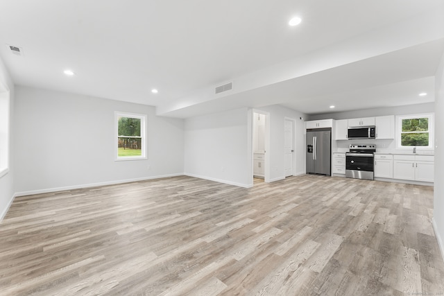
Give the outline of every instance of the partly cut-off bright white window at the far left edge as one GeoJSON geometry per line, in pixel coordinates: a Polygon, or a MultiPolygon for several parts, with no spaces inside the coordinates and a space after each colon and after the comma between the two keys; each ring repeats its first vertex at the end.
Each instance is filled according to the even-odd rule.
{"type": "Polygon", "coordinates": [[[0,178],[9,172],[10,91],[0,82],[0,178]]]}

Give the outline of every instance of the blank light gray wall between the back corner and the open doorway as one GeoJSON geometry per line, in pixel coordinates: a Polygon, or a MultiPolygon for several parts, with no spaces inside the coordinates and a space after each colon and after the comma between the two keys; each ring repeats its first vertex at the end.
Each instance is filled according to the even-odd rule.
{"type": "Polygon", "coordinates": [[[251,116],[241,108],[185,119],[185,174],[237,186],[253,182],[251,116]]]}

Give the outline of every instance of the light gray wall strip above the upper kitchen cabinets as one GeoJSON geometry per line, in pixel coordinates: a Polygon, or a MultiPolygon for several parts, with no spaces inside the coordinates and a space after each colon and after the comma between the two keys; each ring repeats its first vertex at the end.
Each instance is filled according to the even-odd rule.
{"type": "Polygon", "coordinates": [[[354,119],[360,117],[373,117],[385,115],[403,115],[403,114],[420,114],[435,112],[434,103],[423,103],[417,105],[397,106],[397,107],[382,107],[346,112],[333,112],[327,114],[309,115],[307,120],[318,119],[354,119]]]}

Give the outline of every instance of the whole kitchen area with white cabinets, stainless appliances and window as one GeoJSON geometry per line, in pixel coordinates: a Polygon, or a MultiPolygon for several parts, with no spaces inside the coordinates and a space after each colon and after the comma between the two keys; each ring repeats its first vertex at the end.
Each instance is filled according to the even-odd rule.
{"type": "Polygon", "coordinates": [[[433,114],[306,121],[306,172],[433,186],[433,123],[433,114]],[[320,132],[330,142],[320,146],[320,132]]]}

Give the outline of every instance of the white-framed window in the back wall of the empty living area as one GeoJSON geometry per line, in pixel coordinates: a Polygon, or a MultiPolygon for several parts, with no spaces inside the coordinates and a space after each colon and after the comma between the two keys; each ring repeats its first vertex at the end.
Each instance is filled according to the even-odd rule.
{"type": "Polygon", "coordinates": [[[146,159],[146,115],[115,112],[116,160],[146,159]]]}

